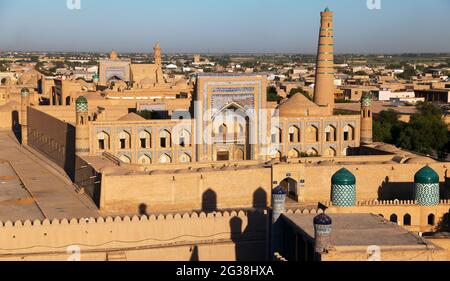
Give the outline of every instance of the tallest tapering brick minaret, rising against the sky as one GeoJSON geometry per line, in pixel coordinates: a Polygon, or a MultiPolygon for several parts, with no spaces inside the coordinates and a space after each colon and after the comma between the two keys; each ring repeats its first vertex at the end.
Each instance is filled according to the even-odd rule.
{"type": "Polygon", "coordinates": [[[314,102],[319,106],[334,108],[334,32],[333,13],[326,8],[320,13],[321,25],[317,50],[314,102]]]}

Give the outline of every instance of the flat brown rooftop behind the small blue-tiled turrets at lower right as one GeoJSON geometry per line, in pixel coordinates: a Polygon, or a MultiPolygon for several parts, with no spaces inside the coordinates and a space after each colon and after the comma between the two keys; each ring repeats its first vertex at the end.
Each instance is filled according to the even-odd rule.
{"type": "MultiPolygon", "coordinates": [[[[436,247],[422,237],[374,214],[327,214],[333,221],[331,243],[333,246],[411,246],[436,247]]],[[[315,214],[283,214],[296,232],[314,239],[315,214]]]]}

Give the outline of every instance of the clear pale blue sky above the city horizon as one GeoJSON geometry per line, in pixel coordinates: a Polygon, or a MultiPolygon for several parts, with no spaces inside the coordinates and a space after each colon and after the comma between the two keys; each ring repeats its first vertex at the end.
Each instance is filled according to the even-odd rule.
{"type": "Polygon", "coordinates": [[[0,0],[0,50],[313,54],[329,7],[337,53],[450,53],[450,0],[70,1],[0,0]]]}

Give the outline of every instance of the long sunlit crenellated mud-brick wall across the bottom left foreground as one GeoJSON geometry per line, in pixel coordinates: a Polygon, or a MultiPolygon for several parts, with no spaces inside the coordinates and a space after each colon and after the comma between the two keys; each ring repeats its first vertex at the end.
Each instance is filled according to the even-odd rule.
{"type": "Polygon", "coordinates": [[[0,260],[265,260],[266,211],[0,223],[0,260]]]}

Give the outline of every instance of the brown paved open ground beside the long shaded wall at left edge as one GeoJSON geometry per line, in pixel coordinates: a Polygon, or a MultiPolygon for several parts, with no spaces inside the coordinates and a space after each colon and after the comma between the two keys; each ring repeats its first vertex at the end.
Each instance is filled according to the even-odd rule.
{"type": "Polygon", "coordinates": [[[7,182],[1,180],[2,176],[18,179],[9,183],[8,188],[0,184],[0,220],[99,216],[97,207],[86,195],[76,193],[75,187],[54,168],[22,148],[11,132],[0,131],[1,163],[0,183],[7,182]]]}

